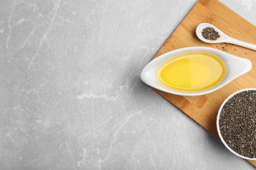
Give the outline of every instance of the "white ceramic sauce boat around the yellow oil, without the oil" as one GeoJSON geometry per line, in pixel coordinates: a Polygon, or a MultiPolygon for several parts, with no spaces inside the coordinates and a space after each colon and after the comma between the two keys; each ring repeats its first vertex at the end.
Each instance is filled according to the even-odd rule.
{"type": "Polygon", "coordinates": [[[186,96],[194,96],[194,95],[204,95],[207,93],[214,92],[216,90],[219,90],[238,76],[244,75],[248,71],[252,69],[252,63],[249,59],[240,58],[238,56],[234,56],[232,54],[228,54],[226,52],[223,52],[221,50],[217,50],[215,48],[210,47],[204,47],[204,46],[193,46],[193,47],[186,47],[186,48],[180,48],[177,50],[173,50],[171,52],[167,52],[165,54],[162,54],[161,56],[158,56],[158,58],[153,59],[150,61],[141,71],[140,73],[140,79],[148,84],[148,86],[151,86],[152,88],[156,88],[158,90],[161,90],[163,92],[172,93],[175,95],[186,95],[186,96]],[[223,60],[224,65],[226,67],[226,75],[224,76],[223,80],[219,82],[216,86],[213,86],[212,88],[208,88],[206,90],[198,90],[193,92],[187,92],[187,91],[181,91],[181,90],[175,90],[173,88],[169,88],[168,86],[165,86],[163,83],[158,80],[157,77],[157,71],[163,65],[163,63],[166,63],[172,58],[175,58],[177,56],[181,56],[182,54],[188,54],[192,52],[205,52],[209,54],[214,54],[215,56],[218,56],[220,59],[223,60]]]}

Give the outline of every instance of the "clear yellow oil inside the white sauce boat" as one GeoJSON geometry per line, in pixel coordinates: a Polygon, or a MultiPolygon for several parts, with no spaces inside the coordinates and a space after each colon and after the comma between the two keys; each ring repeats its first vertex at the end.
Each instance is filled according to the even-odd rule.
{"type": "Polygon", "coordinates": [[[182,91],[198,91],[211,88],[226,74],[223,61],[203,52],[177,56],[158,69],[157,77],[169,88],[182,91]]]}

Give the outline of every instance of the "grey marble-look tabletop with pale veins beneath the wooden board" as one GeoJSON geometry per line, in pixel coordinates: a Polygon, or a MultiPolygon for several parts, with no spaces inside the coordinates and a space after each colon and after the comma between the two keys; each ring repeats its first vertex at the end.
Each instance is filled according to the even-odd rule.
{"type": "Polygon", "coordinates": [[[0,169],[254,169],[139,79],[195,4],[1,0],[0,169]]]}

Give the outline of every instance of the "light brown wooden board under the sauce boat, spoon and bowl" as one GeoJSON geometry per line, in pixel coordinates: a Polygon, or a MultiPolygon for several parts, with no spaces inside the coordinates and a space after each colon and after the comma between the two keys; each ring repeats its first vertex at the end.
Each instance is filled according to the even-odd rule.
{"type": "MultiPolygon", "coordinates": [[[[256,88],[256,51],[234,44],[207,44],[200,41],[196,37],[196,27],[202,22],[216,25],[230,37],[256,44],[256,27],[254,25],[217,0],[200,0],[163,44],[154,58],[177,48],[209,46],[250,59],[253,63],[253,69],[220,90],[207,95],[185,97],[155,90],[219,139],[216,119],[219,107],[221,107],[224,99],[238,90],[256,88]]],[[[256,167],[256,161],[247,161],[256,167]]]]}

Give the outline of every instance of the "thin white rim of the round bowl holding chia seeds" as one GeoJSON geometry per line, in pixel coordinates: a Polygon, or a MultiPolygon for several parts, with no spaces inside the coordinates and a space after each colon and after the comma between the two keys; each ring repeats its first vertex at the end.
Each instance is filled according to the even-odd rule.
{"type": "Polygon", "coordinates": [[[220,109],[219,109],[219,112],[218,112],[218,115],[217,115],[217,122],[216,122],[216,125],[217,125],[217,131],[218,131],[218,135],[222,141],[222,143],[224,144],[224,146],[226,146],[226,148],[228,148],[228,150],[230,150],[230,152],[232,152],[233,154],[235,154],[236,156],[239,156],[240,158],[243,158],[245,160],[256,160],[256,158],[247,158],[245,156],[242,156],[240,154],[238,154],[237,152],[235,152],[234,150],[232,150],[232,148],[230,148],[228,146],[228,144],[226,144],[226,141],[224,141],[222,135],[221,135],[221,130],[219,128],[219,117],[221,115],[221,110],[223,109],[225,103],[231,98],[233,97],[234,95],[238,94],[238,93],[241,93],[241,92],[245,92],[245,91],[249,91],[249,90],[254,90],[256,91],[256,88],[245,88],[245,89],[242,89],[242,90],[238,90],[237,92],[234,92],[232,93],[231,95],[229,95],[223,102],[223,104],[221,105],[220,109]]]}

